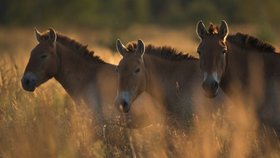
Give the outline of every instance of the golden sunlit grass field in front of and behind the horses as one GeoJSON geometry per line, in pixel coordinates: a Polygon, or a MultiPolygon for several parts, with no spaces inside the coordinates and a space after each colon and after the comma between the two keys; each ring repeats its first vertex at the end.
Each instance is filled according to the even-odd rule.
{"type": "MultiPolygon", "coordinates": [[[[47,28],[38,28],[39,30],[47,28]]],[[[250,26],[234,27],[256,34],[250,26]]],[[[195,27],[160,28],[133,26],[123,31],[57,29],[58,32],[88,44],[102,59],[117,64],[116,37],[124,43],[143,39],[155,45],[170,45],[196,56],[198,39],[195,27]]],[[[34,93],[22,89],[20,79],[35,46],[33,28],[0,28],[0,158],[87,158],[129,157],[131,151],[122,133],[124,128],[109,127],[106,144],[96,137],[100,129],[85,105],[75,105],[63,88],[50,80],[34,93]]],[[[280,40],[273,41],[279,48],[280,40]]],[[[278,49],[279,51],[279,49],[278,49]]],[[[252,103],[240,99],[233,106],[203,107],[194,117],[191,132],[156,124],[131,130],[138,157],[280,157],[280,143],[275,134],[258,130],[252,103]],[[165,130],[168,128],[168,130],[165,130]],[[166,136],[173,148],[165,142],[166,136]],[[173,155],[177,157],[176,155],[173,155]]],[[[199,105],[198,105],[199,106],[199,105]]]]}

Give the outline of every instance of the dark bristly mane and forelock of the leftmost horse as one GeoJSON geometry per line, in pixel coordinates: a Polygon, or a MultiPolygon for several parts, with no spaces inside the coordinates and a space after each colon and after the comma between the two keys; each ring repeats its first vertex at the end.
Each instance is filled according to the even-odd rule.
{"type": "MultiPolygon", "coordinates": [[[[43,36],[48,36],[47,33],[45,33],[43,36]]],[[[45,37],[48,38],[48,37],[45,37]]],[[[78,55],[81,55],[85,57],[86,59],[93,60],[95,62],[99,63],[105,63],[102,59],[100,59],[99,56],[94,55],[94,51],[90,51],[87,48],[87,45],[82,45],[81,43],[77,42],[76,40],[70,39],[67,36],[61,35],[57,33],[57,41],[64,46],[67,46],[74,50],[75,53],[78,55]]]]}

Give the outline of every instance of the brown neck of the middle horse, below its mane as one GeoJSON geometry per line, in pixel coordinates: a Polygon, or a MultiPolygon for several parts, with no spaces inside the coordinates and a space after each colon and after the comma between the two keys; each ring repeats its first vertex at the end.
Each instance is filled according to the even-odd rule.
{"type": "MultiPolygon", "coordinates": [[[[198,62],[197,62],[198,63],[198,62]]],[[[146,91],[157,99],[164,100],[174,87],[185,85],[189,79],[197,77],[199,67],[192,61],[170,61],[153,55],[144,56],[146,70],[146,91]],[[197,68],[196,68],[197,67],[197,68]],[[176,72],[177,70],[180,70],[176,72]]],[[[174,92],[176,93],[176,92],[174,92]]]]}

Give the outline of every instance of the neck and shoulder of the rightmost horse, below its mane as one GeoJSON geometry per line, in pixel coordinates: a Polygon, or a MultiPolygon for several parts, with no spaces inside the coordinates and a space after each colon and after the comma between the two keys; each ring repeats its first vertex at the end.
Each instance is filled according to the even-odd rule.
{"type": "Polygon", "coordinates": [[[227,82],[232,83],[229,80],[238,80],[238,84],[247,88],[246,86],[249,86],[250,81],[254,80],[252,75],[261,75],[254,78],[280,76],[280,70],[274,68],[280,66],[279,54],[241,48],[230,42],[228,42],[228,47],[227,69],[224,77],[227,82]]]}

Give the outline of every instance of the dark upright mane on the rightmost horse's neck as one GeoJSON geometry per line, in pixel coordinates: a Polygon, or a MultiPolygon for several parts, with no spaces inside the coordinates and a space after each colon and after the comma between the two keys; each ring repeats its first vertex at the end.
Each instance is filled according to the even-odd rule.
{"type": "Polygon", "coordinates": [[[260,39],[257,39],[256,37],[247,34],[236,33],[235,35],[229,35],[227,37],[227,41],[247,49],[275,52],[275,47],[273,47],[271,44],[268,44],[260,39]]]}

